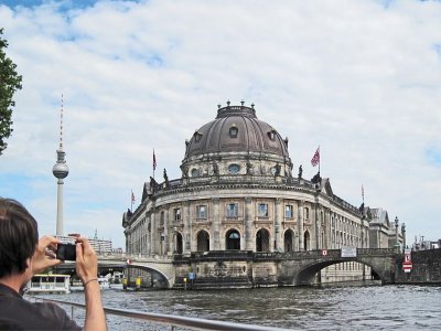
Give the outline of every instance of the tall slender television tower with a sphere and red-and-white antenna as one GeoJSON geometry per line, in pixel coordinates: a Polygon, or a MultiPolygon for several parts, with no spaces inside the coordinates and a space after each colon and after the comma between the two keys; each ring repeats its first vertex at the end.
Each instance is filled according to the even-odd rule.
{"type": "Polygon", "coordinates": [[[57,181],[57,196],[56,196],[56,235],[62,236],[64,233],[63,228],[63,184],[68,174],[68,167],[66,164],[66,160],[64,159],[65,152],[63,150],[63,95],[62,95],[62,108],[60,111],[60,146],[56,151],[56,163],[52,168],[52,173],[57,181]]]}

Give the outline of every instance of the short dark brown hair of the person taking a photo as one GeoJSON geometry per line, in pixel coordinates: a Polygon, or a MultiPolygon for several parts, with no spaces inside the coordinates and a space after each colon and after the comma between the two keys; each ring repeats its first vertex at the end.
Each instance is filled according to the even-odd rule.
{"type": "Polygon", "coordinates": [[[22,274],[37,242],[35,218],[20,202],[0,197],[0,278],[22,274]]]}

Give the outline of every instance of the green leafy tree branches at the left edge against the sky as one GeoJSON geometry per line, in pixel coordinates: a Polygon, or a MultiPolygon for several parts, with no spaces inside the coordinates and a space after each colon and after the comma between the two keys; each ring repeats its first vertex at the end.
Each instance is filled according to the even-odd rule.
{"type": "Polygon", "coordinates": [[[8,147],[4,140],[12,134],[12,108],[15,106],[12,97],[21,89],[22,79],[15,71],[17,65],[4,53],[8,42],[2,34],[3,29],[0,29],[0,156],[8,147]]]}

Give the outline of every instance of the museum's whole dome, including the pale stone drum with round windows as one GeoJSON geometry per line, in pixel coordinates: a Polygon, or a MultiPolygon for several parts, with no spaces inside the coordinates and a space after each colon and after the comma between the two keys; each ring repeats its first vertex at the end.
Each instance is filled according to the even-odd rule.
{"type": "Polygon", "coordinates": [[[256,116],[255,105],[218,105],[214,120],[185,141],[183,177],[213,174],[282,175],[291,173],[288,138],[256,116]]]}

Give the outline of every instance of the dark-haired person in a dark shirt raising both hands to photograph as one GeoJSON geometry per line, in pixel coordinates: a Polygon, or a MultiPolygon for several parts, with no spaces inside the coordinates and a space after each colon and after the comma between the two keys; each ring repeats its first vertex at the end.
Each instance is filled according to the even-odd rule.
{"type": "MultiPolygon", "coordinates": [[[[62,260],[55,257],[60,239],[39,239],[37,224],[18,201],[0,197],[0,330],[82,330],[64,309],[52,302],[22,298],[26,282],[62,260]]],[[[83,281],[86,301],[84,330],[106,330],[98,261],[86,238],[76,238],[76,275],[83,281]]]]}

